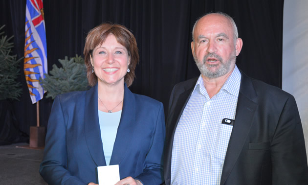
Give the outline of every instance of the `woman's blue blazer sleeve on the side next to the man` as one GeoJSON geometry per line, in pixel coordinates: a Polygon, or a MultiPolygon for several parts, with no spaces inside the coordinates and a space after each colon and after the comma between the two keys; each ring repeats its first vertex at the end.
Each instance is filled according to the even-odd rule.
{"type": "Polygon", "coordinates": [[[165,142],[164,108],[160,102],[152,144],[144,162],[143,173],[136,179],[144,185],[159,185],[163,182],[163,148],[165,142]]]}

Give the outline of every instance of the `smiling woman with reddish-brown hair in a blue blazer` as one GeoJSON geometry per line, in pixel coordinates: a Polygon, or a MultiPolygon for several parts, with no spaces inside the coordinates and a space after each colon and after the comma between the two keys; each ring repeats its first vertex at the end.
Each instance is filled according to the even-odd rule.
{"type": "Polygon", "coordinates": [[[55,98],[42,177],[48,184],[98,183],[97,166],[118,164],[118,185],[161,184],[163,105],[128,89],[139,61],[134,36],[103,23],[88,33],[84,55],[92,88],[55,98]]]}

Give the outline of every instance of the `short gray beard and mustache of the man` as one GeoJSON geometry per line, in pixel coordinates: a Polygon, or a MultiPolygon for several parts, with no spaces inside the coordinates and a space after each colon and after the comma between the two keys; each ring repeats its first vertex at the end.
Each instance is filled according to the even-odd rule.
{"type": "Polygon", "coordinates": [[[226,63],[224,63],[223,59],[218,54],[215,54],[215,53],[208,53],[207,55],[205,55],[203,57],[202,62],[198,61],[198,59],[194,56],[194,60],[196,62],[196,65],[197,65],[200,73],[203,76],[206,76],[210,79],[218,78],[220,76],[225,75],[227,72],[229,72],[232,62],[234,61],[234,63],[235,63],[235,59],[236,59],[235,53],[234,53],[234,55],[232,55],[229,58],[229,60],[226,63]],[[206,59],[208,57],[217,58],[221,63],[220,68],[216,69],[215,71],[211,71],[210,68],[216,68],[219,64],[206,65],[206,59]]]}

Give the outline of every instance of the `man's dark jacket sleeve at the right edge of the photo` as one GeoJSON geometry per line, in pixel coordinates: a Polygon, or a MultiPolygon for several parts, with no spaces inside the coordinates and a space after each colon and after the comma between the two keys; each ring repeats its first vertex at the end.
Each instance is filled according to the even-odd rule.
{"type": "Polygon", "coordinates": [[[285,103],[271,141],[271,158],[273,185],[308,185],[304,134],[292,95],[285,103]]]}

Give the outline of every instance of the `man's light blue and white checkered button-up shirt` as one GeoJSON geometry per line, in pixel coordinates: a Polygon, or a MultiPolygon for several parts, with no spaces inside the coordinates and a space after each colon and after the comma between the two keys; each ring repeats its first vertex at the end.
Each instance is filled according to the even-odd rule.
{"type": "Polygon", "coordinates": [[[176,127],[171,160],[172,185],[219,185],[241,84],[233,70],[211,99],[201,75],[176,127]]]}

